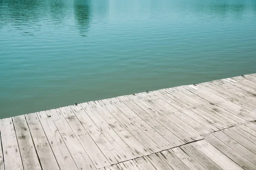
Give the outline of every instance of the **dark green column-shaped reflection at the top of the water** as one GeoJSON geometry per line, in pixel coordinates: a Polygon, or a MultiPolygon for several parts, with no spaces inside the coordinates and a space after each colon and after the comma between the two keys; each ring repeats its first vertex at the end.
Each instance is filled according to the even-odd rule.
{"type": "Polygon", "coordinates": [[[90,27],[90,6],[90,0],[75,0],[74,2],[75,22],[81,36],[86,36],[85,32],[87,32],[90,27]]]}

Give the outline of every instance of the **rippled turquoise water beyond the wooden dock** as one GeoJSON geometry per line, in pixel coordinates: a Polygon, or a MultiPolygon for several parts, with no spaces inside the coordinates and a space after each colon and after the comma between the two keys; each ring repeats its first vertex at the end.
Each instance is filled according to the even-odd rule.
{"type": "Polygon", "coordinates": [[[255,0],[0,0],[0,118],[250,73],[255,0]]]}

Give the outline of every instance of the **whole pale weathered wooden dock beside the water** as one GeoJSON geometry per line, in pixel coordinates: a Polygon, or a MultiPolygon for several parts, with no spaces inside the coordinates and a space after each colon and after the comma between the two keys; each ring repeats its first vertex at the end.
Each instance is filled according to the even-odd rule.
{"type": "Polygon", "coordinates": [[[256,170],[256,74],[0,119],[0,170],[256,170]]]}

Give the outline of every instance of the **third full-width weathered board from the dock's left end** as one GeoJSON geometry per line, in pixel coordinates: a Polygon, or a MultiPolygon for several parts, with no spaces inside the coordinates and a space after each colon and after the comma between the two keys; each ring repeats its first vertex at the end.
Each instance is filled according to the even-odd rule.
{"type": "Polygon", "coordinates": [[[26,122],[28,123],[32,140],[35,145],[41,167],[43,170],[58,170],[58,163],[49,145],[44,129],[38,119],[37,114],[26,114],[26,122]]]}

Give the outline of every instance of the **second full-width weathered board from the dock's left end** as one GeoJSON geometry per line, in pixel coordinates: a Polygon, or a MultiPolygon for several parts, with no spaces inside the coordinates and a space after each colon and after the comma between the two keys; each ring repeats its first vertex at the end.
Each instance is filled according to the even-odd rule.
{"type": "Polygon", "coordinates": [[[37,153],[24,115],[12,117],[25,170],[41,170],[37,153]]]}

